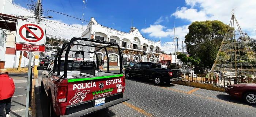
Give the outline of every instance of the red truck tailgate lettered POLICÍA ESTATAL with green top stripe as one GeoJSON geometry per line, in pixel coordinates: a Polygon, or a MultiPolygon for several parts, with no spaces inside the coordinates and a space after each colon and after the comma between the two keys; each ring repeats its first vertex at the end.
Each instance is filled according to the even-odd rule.
{"type": "Polygon", "coordinates": [[[68,79],[68,105],[94,100],[93,106],[105,103],[105,97],[124,91],[123,74],[68,79]],[[97,99],[97,100],[96,100],[97,99]]]}

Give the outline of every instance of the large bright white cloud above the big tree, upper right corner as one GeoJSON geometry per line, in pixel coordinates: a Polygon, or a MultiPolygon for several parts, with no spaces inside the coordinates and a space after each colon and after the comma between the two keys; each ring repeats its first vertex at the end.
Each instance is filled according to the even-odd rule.
{"type": "Polygon", "coordinates": [[[231,11],[234,8],[237,21],[244,32],[248,32],[250,35],[256,29],[255,0],[185,0],[185,3],[190,8],[182,7],[172,15],[191,22],[220,20],[229,24],[231,11]]]}

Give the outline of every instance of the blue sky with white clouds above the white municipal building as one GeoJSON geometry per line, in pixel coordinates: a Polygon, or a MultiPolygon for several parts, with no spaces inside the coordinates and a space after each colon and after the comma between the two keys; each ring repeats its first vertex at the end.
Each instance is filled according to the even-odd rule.
{"type": "MultiPolygon", "coordinates": [[[[31,4],[31,0],[14,0],[14,4],[29,9],[27,4],[31,4]]],[[[227,24],[233,8],[243,31],[251,37],[256,37],[255,0],[87,0],[86,8],[83,0],[42,0],[42,5],[44,16],[53,16],[49,20],[76,27],[82,27],[81,20],[50,11],[46,14],[47,10],[51,9],[81,19],[84,13],[84,20],[89,21],[94,17],[99,24],[124,32],[129,31],[133,20],[133,26],[138,28],[143,36],[147,34],[149,39],[161,40],[162,50],[168,53],[174,51],[174,46],[171,45],[173,40],[170,39],[174,37],[174,21],[176,36],[179,37],[181,46],[181,40],[184,41],[184,36],[188,33],[188,25],[193,21],[220,20],[227,24]]],[[[21,14],[21,11],[18,12],[18,15],[21,14]]],[[[83,25],[85,24],[87,23],[83,25]]],[[[59,28],[56,29],[57,33],[49,29],[51,35],[67,39],[81,32],[80,29],[70,31],[70,27],[63,28],[64,26],[56,26],[54,23],[50,23],[49,26],[59,28]]]]}

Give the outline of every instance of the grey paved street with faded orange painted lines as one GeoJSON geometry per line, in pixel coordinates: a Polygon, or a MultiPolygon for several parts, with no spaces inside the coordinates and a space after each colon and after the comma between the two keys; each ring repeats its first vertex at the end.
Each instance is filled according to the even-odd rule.
{"type": "MultiPolygon", "coordinates": [[[[126,79],[125,83],[124,97],[129,97],[129,101],[86,117],[256,117],[256,106],[223,92],[177,84],[158,86],[141,78],[126,79]]],[[[42,104],[45,97],[41,93],[42,104]]]]}

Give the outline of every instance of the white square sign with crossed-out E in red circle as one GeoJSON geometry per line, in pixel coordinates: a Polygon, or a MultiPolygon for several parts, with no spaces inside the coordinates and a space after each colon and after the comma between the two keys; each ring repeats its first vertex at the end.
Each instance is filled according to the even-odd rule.
{"type": "Polygon", "coordinates": [[[45,30],[45,24],[18,20],[16,26],[15,42],[45,45],[45,30]]]}

